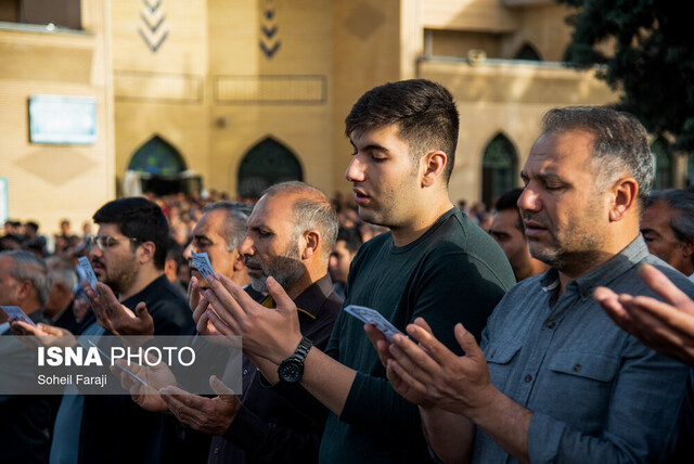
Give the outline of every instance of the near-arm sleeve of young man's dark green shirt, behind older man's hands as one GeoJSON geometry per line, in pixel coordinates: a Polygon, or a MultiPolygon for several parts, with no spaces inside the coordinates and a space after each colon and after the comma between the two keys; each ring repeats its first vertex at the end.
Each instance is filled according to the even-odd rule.
{"type": "MultiPolygon", "coordinates": [[[[479,340],[506,285],[486,263],[462,252],[445,253],[427,262],[416,287],[410,289],[415,304],[408,321],[424,318],[444,345],[462,355],[453,326],[462,322],[479,340]]],[[[368,348],[373,349],[370,344],[368,348]]],[[[373,356],[377,360],[375,352],[373,356]]],[[[394,433],[419,427],[417,408],[395,391],[384,369],[378,372],[381,376],[357,373],[339,418],[394,433]]]]}

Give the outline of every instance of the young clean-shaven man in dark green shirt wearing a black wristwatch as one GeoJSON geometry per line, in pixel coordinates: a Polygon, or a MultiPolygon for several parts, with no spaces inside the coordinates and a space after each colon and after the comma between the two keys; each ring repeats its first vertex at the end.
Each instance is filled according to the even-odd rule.
{"type": "MultiPolygon", "coordinates": [[[[373,308],[401,331],[424,317],[451,348],[457,346],[451,324],[463,322],[479,336],[515,283],[501,248],[449,198],[458,126],[450,93],[423,79],[372,89],[346,119],[355,150],[346,177],[359,216],[390,230],[367,242],[355,258],[346,305],[373,308]]],[[[306,353],[296,308],[272,279],[268,289],[277,311],[264,311],[232,285],[213,281],[210,286],[219,314],[210,320],[242,335],[247,352],[275,365],[298,361],[303,371],[293,378],[280,373],[280,387],[299,382],[332,412],[322,462],[428,459],[417,410],[385,378],[360,321],[343,311],[326,351],[306,353]]]]}

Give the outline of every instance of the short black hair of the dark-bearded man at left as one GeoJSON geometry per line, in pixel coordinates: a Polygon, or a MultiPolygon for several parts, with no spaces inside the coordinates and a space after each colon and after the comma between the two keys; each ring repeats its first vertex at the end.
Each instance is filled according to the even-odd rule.
{"type": "Polygon", "coordinates": [[[118,198],[99,208],[92,219],[98,224],[118,225],[125,236],[136,239],[139,243],[154,243],[154,266],[159,270],[164,269],[169,222],[159,205],[140,196],[118,198]]]}

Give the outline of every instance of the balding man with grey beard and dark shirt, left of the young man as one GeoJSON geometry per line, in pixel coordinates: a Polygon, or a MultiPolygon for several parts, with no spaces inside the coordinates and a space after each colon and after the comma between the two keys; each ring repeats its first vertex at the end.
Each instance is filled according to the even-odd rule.
{"type": "MultiPolygon", "coordinates": [[[[267,279],[272,276],[300,308],[301,331],[313,346],[324,349],[342,306],[327,274],[337,235],[337,216],[329,198],[301,182],[275,184],[255,205],[247,225],[239,252],[245,259],[253,289],[267,292],[267,279]]],[[[213,266],[217,271],[217,265],[213,266]]],[[[223,272],[216,275],[224,284],[233,282],[233,276],[223,272]]],[[[198,288],[195,283],[193,289],[198,288]]],[[[246,297],[252,299],[247,294],[246,297]]],[[[265,311],[272,311],[269,308],[274,307],[274,301],[268,297],[262,306],[265,311]]],[[[210,333],[211,312],[207,301],[201,300],[195,310],[201,334],[235,335],[230,327],[210,333]]],[[[223,385],[214,399],[167,387],[162,391],[162,401],[147,398],[143,407],[157,411],[168,408],[182,424],[215,435],[210,463],[316,462],[327,410],[298,385],[284,391],[285,396],[266,388],[264,384],[277,382],[272,370],[267,379],[259,373],[258,368],[267,363],[253,355],[244,359],[243,395],[239,397],[231,391],[222,394],[223,385]]],[[[127,375],[121,375],[121,382],[132,385],[127,375]]]]}

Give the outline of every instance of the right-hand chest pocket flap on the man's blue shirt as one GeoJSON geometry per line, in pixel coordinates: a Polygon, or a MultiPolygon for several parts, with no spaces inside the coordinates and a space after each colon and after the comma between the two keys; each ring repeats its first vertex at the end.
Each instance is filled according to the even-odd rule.
{"type": "Polygon", "coordinates": [[[560,351],[552,357],[551,371],[599,382],[611,382],[619,369],[619,358],[606,353],[560,351]]]}

